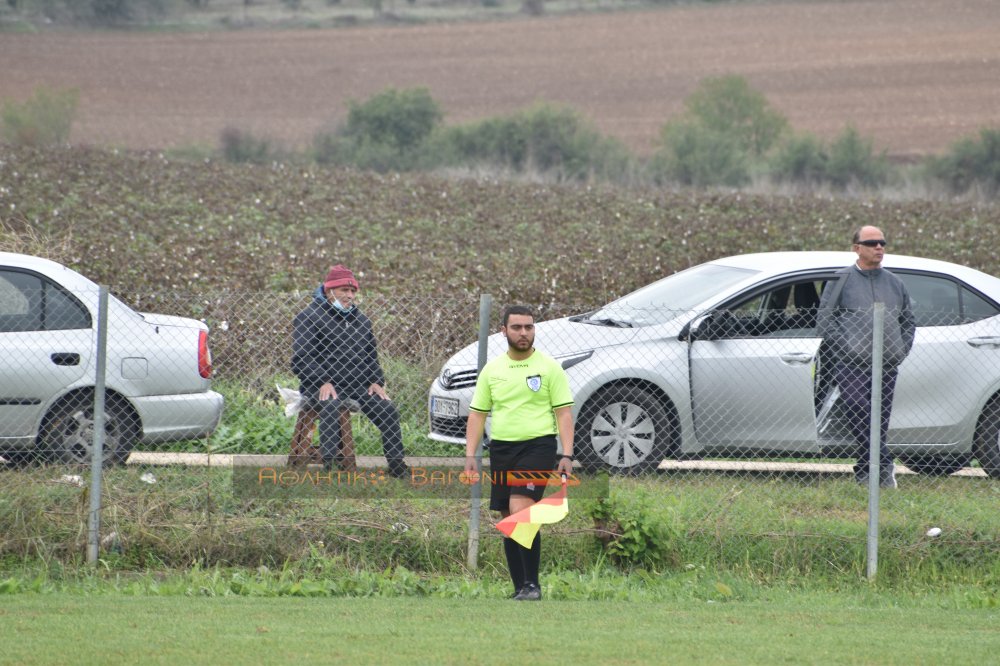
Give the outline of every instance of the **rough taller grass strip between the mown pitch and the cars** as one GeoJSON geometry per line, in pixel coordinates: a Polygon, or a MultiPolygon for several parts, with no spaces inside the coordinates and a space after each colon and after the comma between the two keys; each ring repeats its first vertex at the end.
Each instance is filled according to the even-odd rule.
{"type": "MultiPolygon", "coordinates": [[[[7,591],[461,595],[461,586],[437,581],[471,575],[483,586],[476,594],[489,595],[506,576],[485,510],[478,569],[466,565],[464,487],[390,484],[354,499],[350,489],[329,487],[311,497],[261,495],[227,469],[130,466],[104,479],[102,535],[114,534],[101,552],[109,583],[79,565],[87,488],[55,482],[64,473],[77,472],[0,473],[7,591]],[[155,484],[140,479],[146,472],[155,484]],[[157,578],[192,566],[190,580],[157,578]]],[[[866,578],[867,501],[848,478],[664,474],[614,479],[601,502],[574,492],[569,517],[546,530],[542,570],[552,576],[553,598],[752,601],[758,585],[838,589],[866,578]],[[664,582],[683,585],[659,587],[664,582]],[[717,582],[728,591],[718,593],[717,582]]],[[[997,603],[996,494],[988,479],[902,478],[881,501],[878,582],[912,594],[973,586],[981,601],[970,603],[997,603]],[[932,526],[940,536],[927,536],[932,526]]]]}

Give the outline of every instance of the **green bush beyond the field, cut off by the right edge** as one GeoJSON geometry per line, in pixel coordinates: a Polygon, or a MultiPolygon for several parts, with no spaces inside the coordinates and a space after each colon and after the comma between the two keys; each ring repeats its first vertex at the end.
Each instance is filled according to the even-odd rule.
{"type": "Polygon", "coordinates": [[[982,129],[979,140],[966,137],[941,157],[927,162],[929,176],[951,194],[980,188],[987,197],[1000,193],[1000,129],[982,129]]]}

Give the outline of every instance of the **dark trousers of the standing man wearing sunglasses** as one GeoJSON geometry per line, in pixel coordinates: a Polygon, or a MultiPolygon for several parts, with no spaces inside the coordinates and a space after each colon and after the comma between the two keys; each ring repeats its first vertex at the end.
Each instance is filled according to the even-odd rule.
{"type": "MultiPolygon", "coordinates": [[[[879,467],[887,469],[892,464],[892,454],[886,440],[889,436],[889,417],[892,415],[892,396],[896,391],[896,368],[882,370],[882,423],[879,428],[879,467]]],[[[856,365],[838,364],[837,386],[850,423],[851,433],[858,443],[857,463],[854,473],[868,474],[868,457],[871,449],[872,421],[872,369],[856,365]]]]}

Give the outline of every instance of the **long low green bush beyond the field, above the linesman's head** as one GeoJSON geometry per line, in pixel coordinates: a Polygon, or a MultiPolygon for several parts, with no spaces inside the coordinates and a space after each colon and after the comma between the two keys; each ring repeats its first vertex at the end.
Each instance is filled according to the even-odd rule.
{"type": "Polygon", "coordinates": [[[574,181],[621,181],[631,163],[621,142],[603,136],[574,110],[545,102],[510,116],[442,130],[427,152],[430,164],[485,165],[574,181]]]}

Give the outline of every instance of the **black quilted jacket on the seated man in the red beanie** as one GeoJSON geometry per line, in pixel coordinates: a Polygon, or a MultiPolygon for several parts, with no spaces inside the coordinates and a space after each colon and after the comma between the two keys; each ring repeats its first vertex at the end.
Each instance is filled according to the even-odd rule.
{"type": "Polygon", "coordinates": [[[385,386],[378,362],[372,323],[357,306],[337,310],[322,287],[313,302],[295,315],[292,331],[292,372],[299,391],[313,398],[329,382],[341,397],[366,393],[372,384],[385,386]]]}

